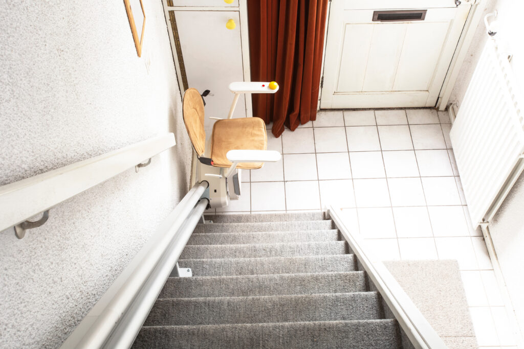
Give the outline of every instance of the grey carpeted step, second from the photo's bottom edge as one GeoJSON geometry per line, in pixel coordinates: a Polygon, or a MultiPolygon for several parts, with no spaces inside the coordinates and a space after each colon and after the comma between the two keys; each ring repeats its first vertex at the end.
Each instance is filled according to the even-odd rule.
{"type": "Polygon", "coordinates": [[[158,299],[146,326],[370,320],[383,317],[378,292],[158,299]]]}

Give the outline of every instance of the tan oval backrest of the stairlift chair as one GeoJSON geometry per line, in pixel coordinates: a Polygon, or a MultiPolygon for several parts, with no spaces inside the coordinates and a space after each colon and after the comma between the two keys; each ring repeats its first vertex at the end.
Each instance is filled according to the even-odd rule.
{"type": "Polygon", "coordinates": [[[188,88],[185,91],[182,115],[193,148],[198,156],[202,156],[205,150],[204,103],[197,89],[188,88]]]}

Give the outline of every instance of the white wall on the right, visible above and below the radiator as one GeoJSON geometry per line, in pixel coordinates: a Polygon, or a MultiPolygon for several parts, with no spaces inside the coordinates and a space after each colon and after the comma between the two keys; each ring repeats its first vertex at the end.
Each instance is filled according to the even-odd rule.
{"type": "MultiPolygon", "coordinates": [[[[484,0],[481,6],[484,7],[485,13],[493,12],[494,9],[498,10],[497,20],[500,24],[500,30],[497,33],[497,39],[500,40],[503,47],[505,46],[513,54],[510,64],[517,76],[521,93],[524,93],[524,45],[522,45],[524,21],[521,18],[522,13],[524,13],[524,3],[515,0],[484,0]]],[[[481,22],[466,62],[462,66],[450,102],[458,101],[460,105],[487,38],[484,22],[481,22]]],[[[524,279],[522,278],[522,269],[524,268],[524,254],[522,254],[524,247],[523,208],[524,175],[521,175],[497,212],[489,229],[517,320],[521,331],[524,333],[524,297],[522,297],[524,295],[524,279]]]]}

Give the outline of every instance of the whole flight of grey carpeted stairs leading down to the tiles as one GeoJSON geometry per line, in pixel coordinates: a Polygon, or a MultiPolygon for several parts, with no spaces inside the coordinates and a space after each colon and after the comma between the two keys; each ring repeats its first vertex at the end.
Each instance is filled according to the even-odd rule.
{"type": "Polygon", "coordinates": [[[206,216],[135,348],[398,348],[397,320],[323,213],[206,216]]]}

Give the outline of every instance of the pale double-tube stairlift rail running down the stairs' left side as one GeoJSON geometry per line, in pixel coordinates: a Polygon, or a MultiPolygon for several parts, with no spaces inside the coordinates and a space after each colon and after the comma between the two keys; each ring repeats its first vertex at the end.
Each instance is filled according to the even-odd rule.
{"type": "Polygon", "coordinates": [[[209,205],[209,184],[193,186],[61,348],[129,348],[209,205]]]}

